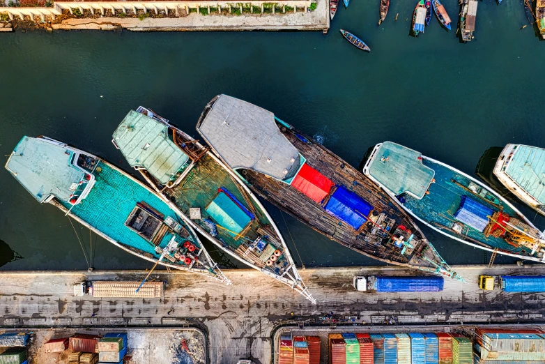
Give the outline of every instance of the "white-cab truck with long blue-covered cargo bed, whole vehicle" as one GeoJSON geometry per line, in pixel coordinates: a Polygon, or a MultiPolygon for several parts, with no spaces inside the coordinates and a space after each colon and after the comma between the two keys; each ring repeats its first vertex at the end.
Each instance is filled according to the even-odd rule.
{"type": "Polygon", "coordinates": [[[370,275],[355,276],[353,286],[357,291],[376,292],[438,292],[443,291],[443,277],[384,277],[370,275]]]}

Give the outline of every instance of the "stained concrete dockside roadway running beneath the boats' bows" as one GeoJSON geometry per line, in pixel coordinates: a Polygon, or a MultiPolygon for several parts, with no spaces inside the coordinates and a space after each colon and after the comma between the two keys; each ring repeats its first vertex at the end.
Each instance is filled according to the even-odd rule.
{"type": "Polygon", "coordinates": [[[466,279],[465,283],[445,278],[442,292],[402,294],[355,291],[353,276],[414,275],[415,271],[399,267],[300,270],[316,305],[254,270],[226,271],[233,282],[229,287],[190,273],[158,273],[152,275],[154,280],[168,282],[164,298],[104,300],[75,297],[72,285],[83,280],[141,280],[146,272],[3,272],[0,273],[0,325],[193,324],[208,331],[210,363],[236,363],[238,358],[271,363],[270,337],[274,328],[280,324],[324,323],[319,317],[328,312],[337,317],[360,317],[360,324],[374,324],[375,328],[391,316],[400,325],[544,321],[545,293],[481,291],[477,279],[481,274],[545,275],[545,266],[455,268],[466,279]]]}

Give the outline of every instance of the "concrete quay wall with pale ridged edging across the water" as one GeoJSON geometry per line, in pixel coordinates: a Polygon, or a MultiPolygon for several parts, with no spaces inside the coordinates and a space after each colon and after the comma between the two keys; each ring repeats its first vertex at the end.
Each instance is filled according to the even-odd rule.
{"type": "Polygon", "coordinates": [[[52,22],[51,29],[129,29],[132,31],[240,31],[240,30],[320,30],[329,29],[328,1],[318,0],[309,11],[312,0],[278,1],[58,1],[52,8],[0,8],[10,20],[52,22]],[[274,6],[273,6],[274,5],[274,6]],[[243,13],[250,6],[251,13],[243,13]],[[266,8],[272,13],[264,13],[266,8]],[[259,8],[260,10],[256,10],[259,8]],[[279,10],[282,8],[282,10],[279,10]],[[206,9],[202,15],[201,9],[206,9]],[[212,12],[211,9],[217,9],[212,12]],[[192,12],[191,10],[196,10],[192,12]],[[228,13],[222,13],[222,10],[228,13]],[[302,10],[302,11],[301,11],[302,10]],[[63,11],[79,17],[56,21],[63,11]],[[92,17],[81,17],[89,11],[92,17]],[[119,17],[116,14],[160,15],[161,17],[119,17]]]}

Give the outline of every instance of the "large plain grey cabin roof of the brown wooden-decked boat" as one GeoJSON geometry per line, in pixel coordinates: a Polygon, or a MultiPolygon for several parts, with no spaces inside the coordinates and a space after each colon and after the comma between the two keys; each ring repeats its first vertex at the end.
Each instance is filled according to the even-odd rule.
{"type": "Polygon", "coordinates": [[[232,169],[283,179],[299,154],[272,112],[231,96],[218,96],[197,130],[232,169]]]}

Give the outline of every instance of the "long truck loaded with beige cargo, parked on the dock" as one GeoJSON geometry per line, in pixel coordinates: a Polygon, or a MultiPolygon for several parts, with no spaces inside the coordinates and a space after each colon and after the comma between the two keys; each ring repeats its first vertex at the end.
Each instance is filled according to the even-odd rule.
{"type": "Polygon", "coordinates": [[[141,282],[120,280],[96,280],[79,282],[74,285],[74,296],[98,298],[154,298],[164,294],[164,282],[141,282]],[[138,291],[137,291],[138,289],[138,291]]]}

